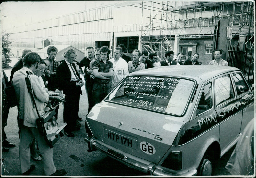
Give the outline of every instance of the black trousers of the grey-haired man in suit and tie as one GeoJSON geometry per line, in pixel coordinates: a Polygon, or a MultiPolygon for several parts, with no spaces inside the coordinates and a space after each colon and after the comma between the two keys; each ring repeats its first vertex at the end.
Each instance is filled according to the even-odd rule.
{"type": "Polygon", "coordinates": [[[80,93],[78,90],[72,90],[71,92],[64,93],[63,91],[66,95],[63,110],[63,122],[67,123],[66,127],[64,127],[64,131],[66,132],[71,132],[75,129],[76,120],[79,118],[80,93]]]}

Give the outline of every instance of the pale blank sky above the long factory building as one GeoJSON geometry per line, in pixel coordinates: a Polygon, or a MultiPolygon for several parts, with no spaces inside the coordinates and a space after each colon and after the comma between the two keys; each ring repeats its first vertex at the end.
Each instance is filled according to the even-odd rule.
{"type": "Polygon", "coordinates": [[[26,1],[1,3],[1,31],[52,19],[86,9],[113,4],[117,1],[26,1]]]}

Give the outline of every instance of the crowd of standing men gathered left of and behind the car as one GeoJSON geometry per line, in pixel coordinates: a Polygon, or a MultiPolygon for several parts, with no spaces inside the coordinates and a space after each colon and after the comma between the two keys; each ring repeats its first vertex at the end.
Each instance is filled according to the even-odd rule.
{"type": "MultiPolygon", "coordinates": [[[[80,62],[76,61],[76,51],[68,49],[64,54],[64,60],[58,62],[56,55],[58,49],[49,46],[47,49],[48,57],[41,57],[25,49],[22,52],[22,58],[14,65],[11,71],[10,81],[2,70],[2,151],[7,152],[9,148],[14,147],[7,141],[4,127],[7,123],[7,117],[10,106],[6,102],[4,88],[14,86],[18,99],[18,127],[19,127],[19,157],[22,175],[29,175],[35,169],[34,165],[30,165],[30,157],[34,160],[43,160],[44,171],[46,175],[65,175],[67,171],[64,169],[57,170],[53,162],[53,151],[47,145],[44,137],[39,134],[36,119],[45,112],[45,103],[49,100],[63,102],[63,122],[67,123],[64,127],[64,134],[68,137],[74,137],[73,131],[80,130],[82,120],[79,118],[79,100],[82,95],[81,87],[84,82],[80,74],[84,76],[85,89],[88,98],[88,112],[91,108],[100,103],[112,89],[129,73],[168,65],[198,65],[199,54],[195,53],[191,59],[182,62],[184,54],[178,53],[174,59],[174,52],[167,51],[165,60],[158,61],[156,53],[148,51],[140,51],[135,49],[132,52],[132,59],[124,55],[126,47],[123,44],[114,48],[113,57],[109,59],[110,49],[107,46],[86,49],[88,56],[84,57],[80,62]],[[82,70],[84,67],[84,71],[82,70]],[[35,103],[38,109],[34,107],[31,95],[28,92],[25,77],[29,77],[35,103]],[[64,95],[50,95],[50,91],[59,92],[64,95]],[[35,150],[35,147],[38,150],[35,150]],[[42,157],[39,156],[40,153],[42,157]]],[[[209,65],[224,65],[228,63],[221,58],[222,50],[214,51],[215,59],[209,65]]],[[[2,64],[5,58],[2,55],[2,64]]],[[[56,107],[56,115],[58,119],[58,107],[56,107]]]]}

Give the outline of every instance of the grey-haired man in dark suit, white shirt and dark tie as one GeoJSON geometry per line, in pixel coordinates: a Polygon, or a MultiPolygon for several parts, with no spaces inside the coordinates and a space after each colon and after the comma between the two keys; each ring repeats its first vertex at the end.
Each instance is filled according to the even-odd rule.
{"type": "Polygon", "coordinates": [[[63,93],[66,95],[63,122],[66,122],[67,126],[64,128],[64,134],[68,137],[74,137],[72,131],[80,129],[76,127],[76,121],[79,118],[79,100],[80,94],[82,94],[81,87],[84,85],[84,82],[79,77],[74,64],[76,51],[68,49],[65,52],[65,56],[65,61],[60,63],[57,68],[56,77],[58,78],[59,90],[63,90],[63,93]]]}

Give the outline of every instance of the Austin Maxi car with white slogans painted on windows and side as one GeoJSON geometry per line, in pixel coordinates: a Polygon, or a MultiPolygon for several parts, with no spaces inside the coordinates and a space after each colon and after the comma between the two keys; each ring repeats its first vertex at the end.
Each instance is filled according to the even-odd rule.
{"type": "Polygon", "coordinates": [[[211,175],[254,118],[254,91],[234,67],[130,73],[86,116],[88,151],[150,175],[211,175]]]}

